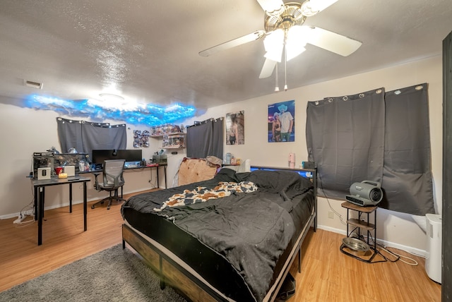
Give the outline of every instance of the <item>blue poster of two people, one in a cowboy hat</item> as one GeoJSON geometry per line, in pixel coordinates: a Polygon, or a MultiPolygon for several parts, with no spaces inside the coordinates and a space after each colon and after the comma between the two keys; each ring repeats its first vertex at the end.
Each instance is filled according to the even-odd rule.
{"type": "Polygon", "coordinates": [[[295,141],[295,100],[268,105],[268,143],[295,141]]]}

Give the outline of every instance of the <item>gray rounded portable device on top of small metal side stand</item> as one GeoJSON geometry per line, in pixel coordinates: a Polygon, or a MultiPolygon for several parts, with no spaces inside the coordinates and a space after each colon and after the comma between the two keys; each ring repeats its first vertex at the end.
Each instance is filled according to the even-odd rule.
{"type": "Polygon", "coordinates": [[[349,203],[355,205],[378,205],[383,199],[381,183],[377,181],[362,181],[350,186],[350,195],[345,195],[349,203]]]}

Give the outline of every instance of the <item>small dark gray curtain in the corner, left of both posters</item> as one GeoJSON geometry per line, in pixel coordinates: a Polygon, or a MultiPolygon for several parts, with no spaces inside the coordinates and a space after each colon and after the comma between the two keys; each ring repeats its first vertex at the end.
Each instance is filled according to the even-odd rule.
{"type": "Polygon", "coordinates": [[[186,156],[223,158],[223,119],[210,119],[186,131],[186,156]]]}

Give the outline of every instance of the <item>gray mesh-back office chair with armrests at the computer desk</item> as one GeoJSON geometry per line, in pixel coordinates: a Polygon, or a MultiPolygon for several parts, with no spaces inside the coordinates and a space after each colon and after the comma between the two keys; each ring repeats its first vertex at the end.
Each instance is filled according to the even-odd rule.
{"type": "Polygon", "coordinates": [[[97,191],[108,191],[110,195],[109,197],[95,203],[91,207],[92,209],[94,209],[98,204],[105,203],[105,200],[108,200],[107,210],[110,210],[110,205],[112,205],[113,200],[126,201],[118,196],[118,189],[124,186],[124,177],[122,176],[122,172],[124,171],[124,162],[126,162],[125,159],[105,160],[104,167],[102,169],[102,183],[97,181],[97,176],[99,174],[95,174],[94,188],[97,191]],[[112,192],[114,195],[112,195],[112,192]]]}

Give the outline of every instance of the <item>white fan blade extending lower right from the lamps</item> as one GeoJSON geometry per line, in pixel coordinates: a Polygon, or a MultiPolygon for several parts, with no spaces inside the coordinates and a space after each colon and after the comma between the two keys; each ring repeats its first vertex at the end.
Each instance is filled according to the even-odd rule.
{"type": "Polygon", "coordinates": [[[318,28],[316,26],[309,26],[309,29],[307,43],[334,52],[335,54],[340,54],[341,56],[349,56],[362,44],[362,42],[357,40],[336,34],[329,30],[323,30],[323,28],[318,28]]]}

